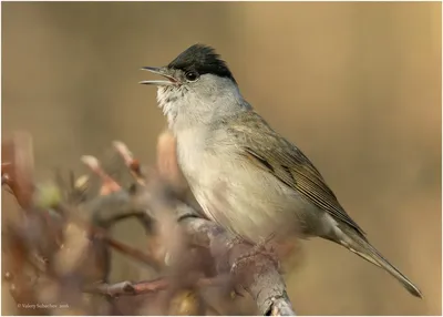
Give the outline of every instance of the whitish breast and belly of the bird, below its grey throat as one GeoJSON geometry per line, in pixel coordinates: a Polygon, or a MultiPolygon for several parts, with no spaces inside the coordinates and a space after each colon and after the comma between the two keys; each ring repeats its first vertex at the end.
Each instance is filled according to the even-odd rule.
{"type": "Polygon", "coordinates": [[[177,145],[182,171],[213,221],[250,241],[296,223],[293,208],[300,200],[276,177],[236,154],[236,144],[224,132],[188,129],[177,134],[177,145]]]}

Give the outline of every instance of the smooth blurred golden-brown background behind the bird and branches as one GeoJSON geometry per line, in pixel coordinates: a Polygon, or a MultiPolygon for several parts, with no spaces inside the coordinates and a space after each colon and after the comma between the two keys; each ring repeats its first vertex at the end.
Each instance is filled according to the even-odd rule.
{"type": "MultiPolygon", "coordinates": [[[[165,120],[138,69],[212,44],[247,100],[424,294],[412,298],[313,239],[287,283],[296,311],[442,314],[441,3],[3,2],[1,27],[2,133],[33,134],[40,178],[54,166],[82,171],[79,157],[102,155],[113,140],[153,163],[165,120]]],[[[115,235],[134,243],[142,231],[132,226],[115,235]]],[[[145,274],[117,257],[112,279],[145,274]]]]}

